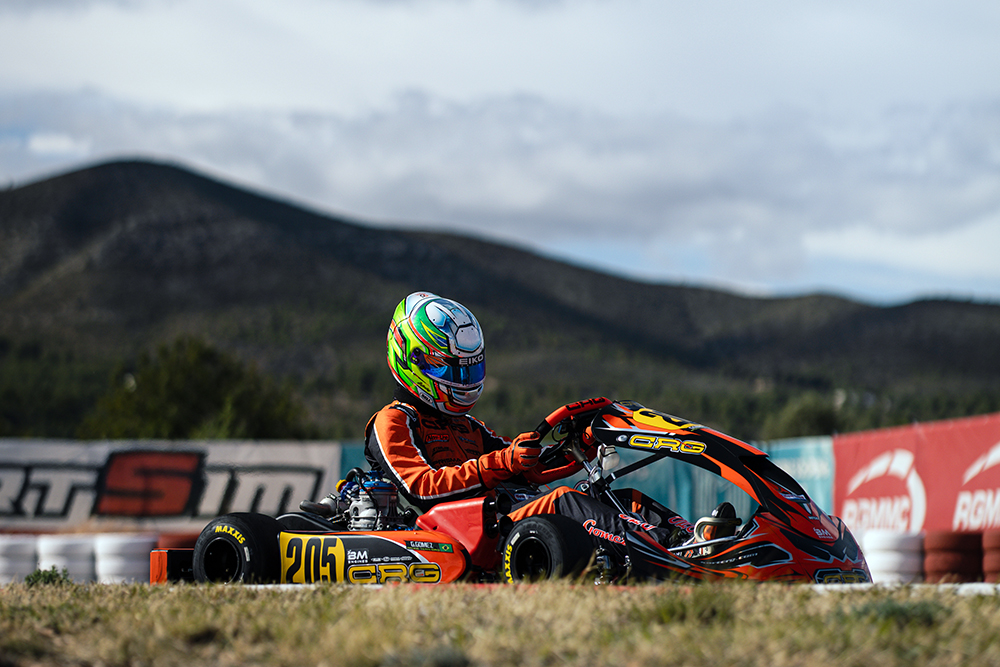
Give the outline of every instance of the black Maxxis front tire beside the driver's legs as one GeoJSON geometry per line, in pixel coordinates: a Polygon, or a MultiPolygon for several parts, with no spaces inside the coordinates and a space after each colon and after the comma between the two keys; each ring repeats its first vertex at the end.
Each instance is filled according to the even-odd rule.
{"type": "Polygon", "coordinates": [[[594,543],[576,521],[560,514],[528,517],[514,524],[503,549],[508,583],[573,577],[590,562],[594,543]]]}

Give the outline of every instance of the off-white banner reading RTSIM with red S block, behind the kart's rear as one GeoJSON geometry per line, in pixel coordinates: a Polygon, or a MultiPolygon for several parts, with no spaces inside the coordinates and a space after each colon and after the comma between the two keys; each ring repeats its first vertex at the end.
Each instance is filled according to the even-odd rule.
{"type": "Polygon", "coordinates": [[[229,512],[276,516],[340,479],[329,442],[0,439],[0,531],[83,524],[191,530],[229,512]]]}

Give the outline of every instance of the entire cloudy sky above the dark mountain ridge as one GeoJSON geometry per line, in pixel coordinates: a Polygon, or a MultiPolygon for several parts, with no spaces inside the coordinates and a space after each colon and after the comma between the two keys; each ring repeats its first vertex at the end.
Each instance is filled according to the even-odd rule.
{"type": "Polygon", "coordinates": [[[0,0],[0,187],[155,159],[641,280],[1000,303],[997,35],[995,0],[0,0]]]}

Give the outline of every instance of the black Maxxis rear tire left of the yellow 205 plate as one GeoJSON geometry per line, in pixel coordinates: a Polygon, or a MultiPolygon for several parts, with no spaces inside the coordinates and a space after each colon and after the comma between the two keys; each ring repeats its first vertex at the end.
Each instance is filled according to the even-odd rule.
{"type": "Polygon", "coordinates": [[[281,524],[264,514],[225,514],[211,521],[194,545],[195,581],[273,583],[278,580],[281,524]]]}

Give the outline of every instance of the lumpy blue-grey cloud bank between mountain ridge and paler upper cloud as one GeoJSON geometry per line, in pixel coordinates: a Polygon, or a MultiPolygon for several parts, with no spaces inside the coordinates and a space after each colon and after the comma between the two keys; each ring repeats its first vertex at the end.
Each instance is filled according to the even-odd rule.
{"type": "Polygon", "coordinates": [[[774,288],[823,282],[816,267],[839,263],[1000,288],[989,251],[1000,247],[998,130],[998,101],[864,122],[788,109],[709,122],[517,95],[411,92],[353,116],[6,95],[0,178],[145,155],[376,224],[514,241],[653,279],[774,288]]]}

